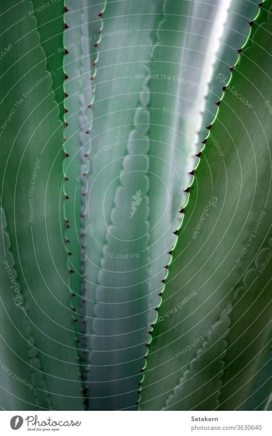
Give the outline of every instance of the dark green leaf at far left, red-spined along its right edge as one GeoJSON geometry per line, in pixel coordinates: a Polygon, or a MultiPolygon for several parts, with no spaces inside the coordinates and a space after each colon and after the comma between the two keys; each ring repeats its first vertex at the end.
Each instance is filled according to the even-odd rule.
{"type": "MultiPolygon", "coordinates": [[[[31,10],[29,1],[1,5],[2,44],[12,44],[1,61],[2,206],[31,327],[31,333],[22,334],[26,347],[34,338],[37,378],[42,371],[47,386],[37,381],[37,405],[43,407],[46,391],[50,408],[75,410],[82,409],[82,394],[63,237],[63,123],[31,10]]],[[[63,77],[61,64],[56,74],[63,77]]],[[[32,351],[29,357],[34,357],[32,351]]]]}

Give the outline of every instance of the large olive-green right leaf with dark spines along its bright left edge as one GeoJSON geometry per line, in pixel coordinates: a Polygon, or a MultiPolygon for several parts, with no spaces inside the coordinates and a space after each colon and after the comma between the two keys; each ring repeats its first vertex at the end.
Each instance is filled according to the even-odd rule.
{"type": "MultiPolygon", "coordinates": [[[[158,318],[149,347],[143,410],[165,407],[196,357],[192,338],[193,344],[201,341],[228,301],[234,308],[219,409],[245,407],[269,349],[268,269],[262,274],[259,270],[269,247],[271,215],[267,195],[272,127],[265,104],[272,100],[270,7],[271,0],[266,0],[250,30],[195,170],[165,279],[158,312],[163,319],[158,318]],[[223,159],[213,139],[221,146],[223,159]],[[236,325],[247,326],[241,336],[236,325]]],[[[204,400],[196,396],[195,405],[204,400]]]]}

